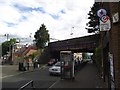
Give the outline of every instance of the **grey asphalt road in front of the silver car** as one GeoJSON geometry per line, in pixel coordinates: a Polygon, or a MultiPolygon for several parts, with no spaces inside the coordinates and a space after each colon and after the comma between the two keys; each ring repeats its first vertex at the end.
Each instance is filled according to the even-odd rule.
{"type": "Polygon", "coordinates": [[[49,88],[57,80],[59,76],[50,76],[48,73],[48,66],[35,71],[24,72],[20,74],[11,75],[9,77],[2,78],[2,88],[18,89],[30,80],[33,80],[35,88],[49,88]]]}

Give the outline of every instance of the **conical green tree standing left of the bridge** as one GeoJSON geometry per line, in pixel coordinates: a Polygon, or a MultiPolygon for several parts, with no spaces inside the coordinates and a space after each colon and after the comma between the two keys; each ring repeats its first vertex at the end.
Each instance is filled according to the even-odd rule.
{"type": "Polygon", "coordinates": [[[44,24],[41,24],[39,30],[35,32],[34,38],[37,48],[43,49],[46,43],[49,41],[49,33],[44,24]]]}

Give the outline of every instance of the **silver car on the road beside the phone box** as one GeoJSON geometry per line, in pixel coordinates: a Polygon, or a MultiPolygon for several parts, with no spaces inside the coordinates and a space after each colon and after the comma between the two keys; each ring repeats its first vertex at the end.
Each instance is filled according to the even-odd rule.
{"type": "Polygon", "coordinates": [[[53,65],[51,68],[49,68],[49,74],[50,75],[60,75],[61,69],[60,69],[60,62],[57,62],[55,65],[53,65]]]}

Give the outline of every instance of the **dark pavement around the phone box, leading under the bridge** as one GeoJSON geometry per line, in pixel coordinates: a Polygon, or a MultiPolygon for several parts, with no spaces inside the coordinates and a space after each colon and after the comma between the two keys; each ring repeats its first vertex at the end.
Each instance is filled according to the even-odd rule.
{"type": "Polygon", "coordinates": [[[105,88],[105,83],[98,77],[93,64],[86,64],[75,76],[75,80],[59,80],[52,88],[105,88]]]}

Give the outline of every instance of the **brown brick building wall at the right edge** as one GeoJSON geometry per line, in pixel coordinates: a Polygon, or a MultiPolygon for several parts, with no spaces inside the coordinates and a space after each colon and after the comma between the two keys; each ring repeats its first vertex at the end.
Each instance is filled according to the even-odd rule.
{"type": "Polygon", "coordinates": [[[113,54],[115,87],[120,88],[120,2],[110,2],[109,10],[112,20],[109,49],[113,54]]]}

